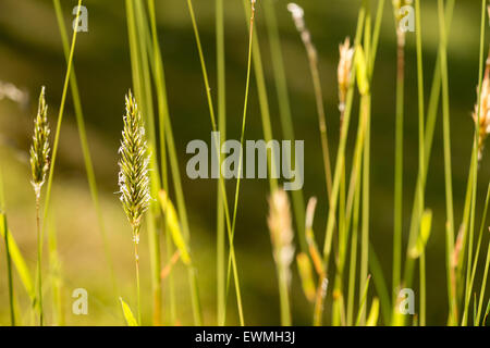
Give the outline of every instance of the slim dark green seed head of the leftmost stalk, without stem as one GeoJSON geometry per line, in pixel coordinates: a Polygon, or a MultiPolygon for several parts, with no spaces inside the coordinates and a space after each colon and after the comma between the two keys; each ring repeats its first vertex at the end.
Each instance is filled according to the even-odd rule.
{"type": "Polygon", "coordinates": [[[37,115],[34,120],[33,144],[29,151],[33,172],[32,184],[38,198],[49,170],[49,134],[48,105],[45,99],[45,87],[42,87],[39,95],[37,115]]]}

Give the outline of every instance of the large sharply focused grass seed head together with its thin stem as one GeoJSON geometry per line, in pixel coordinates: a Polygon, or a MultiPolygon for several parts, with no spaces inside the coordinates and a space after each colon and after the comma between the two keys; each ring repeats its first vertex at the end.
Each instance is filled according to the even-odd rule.
{"type": "Polygon", "coordinates": [[[120,200],[131,224],[136,264],[136,289],[138,321],[142,323],[140,293],[139,293],[139,229],[142,219],[148,210],[151,196],[148,175],[149,153],[145,136],[145,126],[136,100],[131,90],[125,97],[126,114],[122,132],[119,153],[119,187],[120,200]]]}

